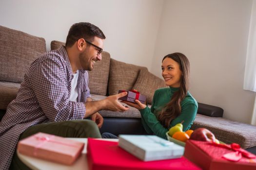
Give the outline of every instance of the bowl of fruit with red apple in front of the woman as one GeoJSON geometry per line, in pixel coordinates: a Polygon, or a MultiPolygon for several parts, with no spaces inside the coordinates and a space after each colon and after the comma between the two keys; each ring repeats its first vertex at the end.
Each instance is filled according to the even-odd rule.
{"type": "Polygon", "coordinates": [[[206,128],[198,128],[195,131],[187,130],[186,132],[183,132],[182,128],[182,122],[171,127],[169,131],[166,132],[167,139],[180,146],[185,146],[188,139],[223,143],[216,139],[214,134],[206,128]]]}

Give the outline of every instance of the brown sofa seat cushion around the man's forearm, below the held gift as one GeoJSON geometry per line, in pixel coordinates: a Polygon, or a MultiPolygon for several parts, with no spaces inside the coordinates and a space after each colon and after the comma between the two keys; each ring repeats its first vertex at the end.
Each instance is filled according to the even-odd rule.
{"type": "MultiPolygon", "coordinates": [[[[98,100],[102,100],[105,99],[106,96],[102,96],[102,95],[95,95],[95,94],[91,94],[92,98],[94,101],[98,101],[98,100]]],[[[128,106],[125,103],[122,103],[124,106],[128,106]]],[[[125,112],[113,112],[113,111],[108,111],[108,110],[100,110],[98,113],[102,116],[102,117],[111,117],[111,118],[141,118],[140,113],[138,111],[138,109],[128,106],[129,110],[125,111],[125,112]]],[[[149,105],[150,107],[150,105],[149,105]]]]}

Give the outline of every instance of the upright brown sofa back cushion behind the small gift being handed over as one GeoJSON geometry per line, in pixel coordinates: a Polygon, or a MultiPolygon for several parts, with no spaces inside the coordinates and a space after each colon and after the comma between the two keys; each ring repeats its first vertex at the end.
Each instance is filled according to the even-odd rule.
{"type": "Polygon", "coordinates": [[[145,67],[127,64],[110,59],[108,94],[118,94],[118,90],[131,90],[137,80],[140,69],[145,67]]]}

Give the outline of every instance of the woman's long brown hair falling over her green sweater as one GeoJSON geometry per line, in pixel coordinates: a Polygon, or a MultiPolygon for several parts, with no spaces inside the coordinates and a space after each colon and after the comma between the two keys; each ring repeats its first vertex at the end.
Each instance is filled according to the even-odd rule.
{"type": "MultiPolygon", "coordinates": [[[[179,64],[179,69],[182,72],[180,78],[180,87],[173,94],[170,102],[168,102],[158,114],[158,120],[165,127],[168,128],[171,121],[181,113],[180,102],[186,97],[189,85],[189,61],[188,58],[179,52],[168,54],[163,57],[171,58],[179,64]]],[[[162,62],[163,62],[162,60],[162,62]]]]}

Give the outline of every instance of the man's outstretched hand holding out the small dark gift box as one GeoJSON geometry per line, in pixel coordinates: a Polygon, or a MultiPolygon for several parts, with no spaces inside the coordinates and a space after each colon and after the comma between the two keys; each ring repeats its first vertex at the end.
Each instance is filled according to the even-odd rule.
{"type": "Polygon", "coordinates": [[[116,95],[106,97],[105,99],[103,99],[104,105],[106,106],[104,109],[110,110],[110,111],[119,111],[119,112],[124,112],[128,110],[129,109],[128,107],[125,107],[118,101],[119,98],[124,97],[126,95],[127,95],[127,92],[122,92],[116,95]]]}

